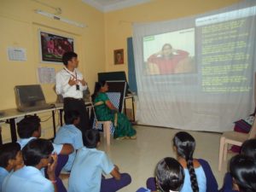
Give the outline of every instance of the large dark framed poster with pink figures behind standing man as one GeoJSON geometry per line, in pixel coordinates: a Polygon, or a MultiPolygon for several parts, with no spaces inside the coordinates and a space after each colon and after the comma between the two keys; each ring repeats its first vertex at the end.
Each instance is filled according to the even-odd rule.
{"type": "Polygon", "coordinates": [[[41,62],[62,63],[62,55],[74,50],[74,39],[39,31],[41,62]]]}

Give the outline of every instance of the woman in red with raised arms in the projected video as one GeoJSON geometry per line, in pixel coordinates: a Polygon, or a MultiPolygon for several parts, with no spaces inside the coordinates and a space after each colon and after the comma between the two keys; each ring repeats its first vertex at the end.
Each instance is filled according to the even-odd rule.
{"type": "Polygon", "coordinates": [[[164,44],[159,52],[149,56],[148,67],[157,67],[159,70],[157,73],[160,74],[175,73],[178,62],[188,58],[188,56],[187,51],[173,49],[171,44],[164,44]]]}

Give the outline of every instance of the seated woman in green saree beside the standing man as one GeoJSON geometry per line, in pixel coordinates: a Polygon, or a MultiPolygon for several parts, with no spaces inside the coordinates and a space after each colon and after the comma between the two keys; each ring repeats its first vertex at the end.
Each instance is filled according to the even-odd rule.
{"type": "Polygon", "coordinates": [[[100,121],[111,120],[114,126],[113,138],[115,139],[136,139],[136,131],[131,126],[129,119],[109,101],[106,94],[108,83],[106,81],[96,82],[92,97],[96,118],[100,121]]]}

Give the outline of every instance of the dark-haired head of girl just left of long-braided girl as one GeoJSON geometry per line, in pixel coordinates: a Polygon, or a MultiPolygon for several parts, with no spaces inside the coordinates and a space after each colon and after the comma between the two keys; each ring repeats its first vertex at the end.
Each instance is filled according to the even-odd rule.
{"type": "MultiPolygon", "coordinates": [[[[155,168],[156,185],[162,192],[180,191],[183,187],[183,166],[172,157],[160,160],[155,168]]],[[[153,177],[152,177],[153,178],[153,177]]],[[[152,179],[149,178],[149,179],[152,179]]],[[[154,178],[153,178],[154,179],[154,178]]],[[[138,189],[137,192],[150,192],[150,189],[138,189]]]]}

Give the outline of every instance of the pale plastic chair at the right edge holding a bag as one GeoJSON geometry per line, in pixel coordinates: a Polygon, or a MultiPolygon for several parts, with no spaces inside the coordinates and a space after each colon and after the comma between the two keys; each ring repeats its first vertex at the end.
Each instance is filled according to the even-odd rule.
{"type": "Polygon", "coordinates": [[[222,162],[227,159],[228,145],[241,146],[247,139],[254,138],[256,135],[256,120],[254,117],[253,125],[249,133],[236,131],[225,131],[220,137],[219,154],[218,154],[218,171],[221,171],[222,162]]]}

